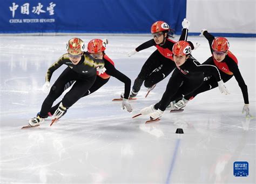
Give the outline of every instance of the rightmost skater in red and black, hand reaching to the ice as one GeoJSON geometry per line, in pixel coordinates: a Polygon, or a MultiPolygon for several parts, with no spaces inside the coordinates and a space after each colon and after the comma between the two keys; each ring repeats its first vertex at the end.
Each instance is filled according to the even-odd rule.
{"type": "MultiPolygon", "coordinates": [[[[242,108],[242,113],[246,112],[246,117],[252,117],[250,114],[249,100],[248,100],[248,91],[244,79],[238,68],[238,60],[234,54],[229,50],[228,40],[224,37],[214,38],[213,35],[208,33],[206,29],[201,30],[200,36],[205,36],[210,45],[210,50],[212,56],[208,58],[203,64],[205,65],[214,65],[217,66],[220,76],[223,79],[224,83],[230,80],[233,76],[238,82],[238,85],[241,88],[242,96],[244,97],[244,107],[242,108]]],[[[216,79],[208,74],[205,76],[205,81],[203,84],[197,88],[192,94],[185,96],[183,99],[174,104],[176,108],[184,108],[188,103],[189,99],[193,99],[197,94],[211,90],[217,87],[216,79]]]]}

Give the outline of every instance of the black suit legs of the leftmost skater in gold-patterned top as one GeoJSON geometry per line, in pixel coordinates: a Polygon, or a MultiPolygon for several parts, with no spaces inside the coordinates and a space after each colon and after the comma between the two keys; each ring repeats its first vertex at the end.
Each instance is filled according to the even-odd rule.
{"type": "Polygon", "coordinates": [[[42,104],[40,111],[40,116],[42,118],[48,117],[48,112],[50,111],[53,102],[63,93],[65,84],[72,80],[76,80],[76,83],[62,99],[63,106],[67,108],[75,104],[76,101],[89,90],[96,80],[96,73],[93,76],[86,76],[67,67],[52,85],[50,93],[42,104]]]}

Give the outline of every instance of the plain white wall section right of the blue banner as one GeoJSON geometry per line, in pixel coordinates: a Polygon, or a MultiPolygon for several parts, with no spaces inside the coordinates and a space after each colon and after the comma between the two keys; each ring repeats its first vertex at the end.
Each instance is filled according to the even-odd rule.
{"type": "Polygon", "coordinates": [[[256,33],[255,0],[187,0],[190,32],[256,33]]]}

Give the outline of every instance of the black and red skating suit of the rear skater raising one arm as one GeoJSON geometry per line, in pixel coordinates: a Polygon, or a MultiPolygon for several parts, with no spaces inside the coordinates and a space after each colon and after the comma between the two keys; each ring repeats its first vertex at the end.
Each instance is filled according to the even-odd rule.
{"type": "MultiPolygon", "coordinates": [[[[187,29],[183,29],[180,39],[187,38],[187,29]]],[[[136,48],[136,51],[156,46],[157,50],[146,60],[142,66],[142,70],[138,74],[132,86],[133,92],[138,92],[143,84],[145,87],[151,87],[159,81],[165,79],[176,67],[172,57],[172,47],[176,42],[169,38],[165,38],[164,44],[157,45],[154,39],[151,39],[136,48]]]]}

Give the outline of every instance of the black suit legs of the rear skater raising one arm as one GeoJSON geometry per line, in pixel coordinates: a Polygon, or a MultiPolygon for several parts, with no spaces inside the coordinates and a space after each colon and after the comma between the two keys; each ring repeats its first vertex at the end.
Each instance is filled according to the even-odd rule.
{"type": "Polygon", "coordinates": [[[166,78],[175,69],[175,63],[164,57],[158,50],[154,51],[142,66],[138,77],[134,80],[132,90],[138,92],[143,84],[151,87],[166,78]]]}

